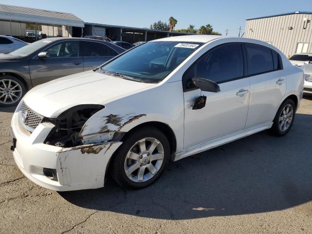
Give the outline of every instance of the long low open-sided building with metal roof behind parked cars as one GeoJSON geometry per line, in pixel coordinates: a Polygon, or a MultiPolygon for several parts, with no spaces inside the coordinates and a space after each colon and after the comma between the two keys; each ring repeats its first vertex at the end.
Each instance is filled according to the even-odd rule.
{"type": "Polygon", "coordinates": [[[134,43],[187,34],[85,23],[70,13],[0,4],[0,35],[13,36],[27,42],[50,37],[101,36],[134,43]]]}

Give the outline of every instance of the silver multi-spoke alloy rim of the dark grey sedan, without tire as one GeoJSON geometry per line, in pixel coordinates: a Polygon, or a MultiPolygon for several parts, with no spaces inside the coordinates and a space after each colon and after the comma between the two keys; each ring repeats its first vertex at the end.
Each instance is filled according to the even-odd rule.
{"type": "Polygon", "coordinates": [[[13,79],[0,80],[0,103],[12,104],[20,100],[22,88],[18,82],[13,79]]]}

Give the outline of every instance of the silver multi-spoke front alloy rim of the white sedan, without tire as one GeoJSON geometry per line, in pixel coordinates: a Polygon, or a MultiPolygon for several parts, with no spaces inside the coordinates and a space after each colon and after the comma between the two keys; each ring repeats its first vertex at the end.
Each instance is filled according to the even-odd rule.
{"type": "Polygon", "coordinates": [[[129,150],[124,170],[126,176],[137,183],[154,177],[161,168],[164,159],[164,148],[156,138],[143,138],[129,150]]]}

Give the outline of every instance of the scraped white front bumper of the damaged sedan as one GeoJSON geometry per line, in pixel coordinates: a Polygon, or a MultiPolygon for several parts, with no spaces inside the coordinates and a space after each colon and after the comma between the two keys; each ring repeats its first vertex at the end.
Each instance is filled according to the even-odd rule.
{"type": "Polygon", "coordinates": [[[19,113],[14,113],[11,131],[16,138],[16,147],[13,156],[20,171],[36,184],[56,191],[103,187],[108,162],[122,142],[102,142],[72,148],[44,144],[53,127],[51,123],[40,123],[30,134],[21,127],[19,113]],[[57,179],[45,176],[44,168],[55,169],[57,179]]]}

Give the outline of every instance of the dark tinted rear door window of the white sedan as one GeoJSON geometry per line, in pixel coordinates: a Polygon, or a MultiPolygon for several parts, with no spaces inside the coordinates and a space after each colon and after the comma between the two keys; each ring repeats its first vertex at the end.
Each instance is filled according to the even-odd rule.
{"type": "Polygon", "coordinates": [[[248,75],[255,75],[274,70],[273,57],[276,60],[276,68],[278,64],[278,56],[272,50],[263,46],[246,44],[248,75]],[[273,53],[276,55],[273,56],[273,53]]]}

